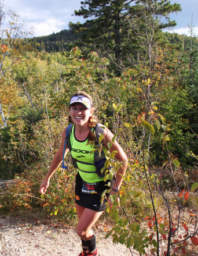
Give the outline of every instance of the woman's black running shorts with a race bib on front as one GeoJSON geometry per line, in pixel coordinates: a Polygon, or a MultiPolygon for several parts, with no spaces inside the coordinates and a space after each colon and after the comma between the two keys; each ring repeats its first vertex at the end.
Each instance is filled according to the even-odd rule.
{"type": "Polygon", "coordinates": [[[114,182],[114,180],[107,180],[106,182],[86,183],[80,177],[79,173],[76,175],[75,184],[75,202],[76,204],[91,209],[96,212],[102,212],[107,208],[107,198],[109,196],[106,193],[107,198],[104,197],[104,201],[101,203],[101,195],[104,190],[109,189],[107,184],[114,182]]]}

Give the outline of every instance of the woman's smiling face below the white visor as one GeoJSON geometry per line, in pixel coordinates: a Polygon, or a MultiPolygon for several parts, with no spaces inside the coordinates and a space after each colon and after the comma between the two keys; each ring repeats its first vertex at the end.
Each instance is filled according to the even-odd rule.
{"type": "Polygon", "coordinates": [[[69,113],[75,125],[87,125],[93,111],[87,109],[82,103],[74,103],[70,106],[69,113]]]}

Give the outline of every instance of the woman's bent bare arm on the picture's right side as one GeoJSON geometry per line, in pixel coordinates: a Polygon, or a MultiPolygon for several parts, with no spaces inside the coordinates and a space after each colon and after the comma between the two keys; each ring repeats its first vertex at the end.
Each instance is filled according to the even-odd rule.
{"type": "MultiPolygon", "coordinates": [[[[109,129],[105,129],[103,134],[104,134],[104,145],[105,147],[107,147],[108,143],[112,143],[113,134],[109,129]]],[[[124,176],[126,173],[128,159],[122,147],[119,145],[118,141],[115,141],[114,143],[112,143],[110,152],[115,150],[118,151],[115,155],[115,158],[119,162],[122,162],[122,166],[120,166],[120,168],[118,169],[118,172],[116,173],[116,182],[113,184],[112,188],[115,190],[117,189],[119,190],[123,180],[122,176],[124,176]]],[[[115,194],[115,193],[116,191],[111,190],[111,194],[115,194]]]]}

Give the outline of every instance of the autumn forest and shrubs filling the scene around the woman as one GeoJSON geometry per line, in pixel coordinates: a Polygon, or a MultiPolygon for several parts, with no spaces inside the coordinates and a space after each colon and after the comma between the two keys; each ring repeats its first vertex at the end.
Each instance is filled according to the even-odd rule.
{"type": "MultiPolygon", "coordinates": [[[[0,179],[12,180],[0,187],[0,213],[42,209],[75,222],[76,170],[69,158],[49,193],[41,195],[39,186],[68,125],[69,99],[83,90],[129,158],[120,207],[114,201],[107,210],[113,222],[107,237],[140,255],[196,255],[198,39],[193,21],[188,36],[164,32],[176,25],[170,13],[181,11],[168,0],[81,5],[75,15],[85,23],[36,38],[0,2],[0,179]]],[[[120,163],[114,155],[107,151],[107,165],[116,171],[120,163]]]]}

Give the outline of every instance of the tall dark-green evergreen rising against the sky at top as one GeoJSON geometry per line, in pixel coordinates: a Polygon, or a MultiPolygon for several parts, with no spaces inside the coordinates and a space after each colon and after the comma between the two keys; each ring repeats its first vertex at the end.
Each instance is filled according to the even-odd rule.
{"type": "Polygon", "coordinates": [[[69,23],[70,28],[81,35],[77,44],[89,50],[109,52],[116,62],[136,55],[142,38],[153,42],[157,31],[175,26],[169,15],[181,10],[180,5],[168,0],[87,0],[81,3],[75,15],[83,16],[86,22],[69,23]],[[149,37],[151,30],[154,34],[149,37]]]}

